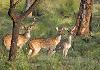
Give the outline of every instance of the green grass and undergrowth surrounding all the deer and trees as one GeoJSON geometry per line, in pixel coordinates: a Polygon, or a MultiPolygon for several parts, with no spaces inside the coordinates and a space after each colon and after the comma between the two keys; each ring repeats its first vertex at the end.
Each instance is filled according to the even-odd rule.
{"type": "MultiPolygon", "coordinates": [[[[9,0],[0,0],[0,70],[100,70],[100,1],[94,0],[92,16],[92,35],[75,37],[67,57],[62,52],[48,56],[42,49],[34,58],[27,58],[28,45],[17,55],[17,60],[10,63],[8,51],[2,45],[2,38],[12,32],[12,21],[8,16],[9,0]]],[[[25,0],[17,6],[17,11],[25,10],[25,0]]],[[[37,18],[37,25],[31,32],[32,38],[49,38],[56,35],[57,26],[71,29],[76,22],[80,0],[40,0],[33,10],[33,16],[26,18],[21,25],[29,25],[37,18]]],[[[20,29],[20,33],[24,31],[20,29]]],[[[63,37],[68,37],[66,35],[63,37]]]]}

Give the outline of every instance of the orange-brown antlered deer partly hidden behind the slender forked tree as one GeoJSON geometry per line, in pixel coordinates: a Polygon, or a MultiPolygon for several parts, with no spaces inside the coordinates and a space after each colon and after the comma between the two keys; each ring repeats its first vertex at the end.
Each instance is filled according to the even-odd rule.
{"type": "MultiPolygon", "coordinates": [[[[23,45],[30,39],[31,37],[30,33],[32,31],[33,26],[34,22],[29,26],[22,26],[22,29],[24,28],[25,32],[23,34],[18,35],[18,41],[17,41],[18,49],[21,49],[23,45]]],[[[10,50],[11,40],[12,40],[12,34],[6,34],[3,37],[3,45],[6,47],[7,50],[10,50]]]]}

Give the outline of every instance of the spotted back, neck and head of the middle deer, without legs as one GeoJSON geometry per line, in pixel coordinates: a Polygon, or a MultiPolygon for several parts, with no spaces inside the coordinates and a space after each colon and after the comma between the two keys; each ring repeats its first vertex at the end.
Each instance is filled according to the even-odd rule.
{"type": "Polygon", "coordinates": [[[57,36],[56,37],[50,37],[50,38],[46,38],[46,39],[32,39],[29,44],[30,44],[30,48],[50,48],[50,47],[54,47],[56,46],[60,40],[61,40],[61,34],[63,33],[63,28],[58,29],[58,27],[56,28],[57,30],[57,36]]]}

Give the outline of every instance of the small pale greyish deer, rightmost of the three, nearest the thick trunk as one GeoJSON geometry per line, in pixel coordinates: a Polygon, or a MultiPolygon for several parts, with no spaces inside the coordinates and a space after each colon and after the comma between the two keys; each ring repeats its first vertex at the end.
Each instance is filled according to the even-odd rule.
{"type": "Polygon", "coordinates": [[[68,54],[68,50],[71,48],[72,46],[72,33],[69,33],[68,34],[68,39],[62,39],[59,44],[56,46],[56,51],[57,50],[61,50],[62,49],[62,53],[63,53],[63,56],[66,57],[67,54],[68,54]]]}

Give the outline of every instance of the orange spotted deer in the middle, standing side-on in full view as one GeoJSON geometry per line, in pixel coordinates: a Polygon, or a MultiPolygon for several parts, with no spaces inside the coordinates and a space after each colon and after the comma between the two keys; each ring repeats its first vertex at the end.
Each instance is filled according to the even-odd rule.
{"type": "Polygon", "coordinates": [[[56,27],[57,30],[57,36],[55,37],[50,37],[50,38],[37,38],[37,39],[31,39],[29,41],[29,52],[28,52],[28,56],[36,56],[39,51],[44,48],[44,49],[48,49],[48,54],[53,54],[55,53],[54,49],[56,47],[56,45],[60,42],[61,40],[61,35],[63,34],[64,30],[66,30],[66,28],[58,28],[56,27]]]}

